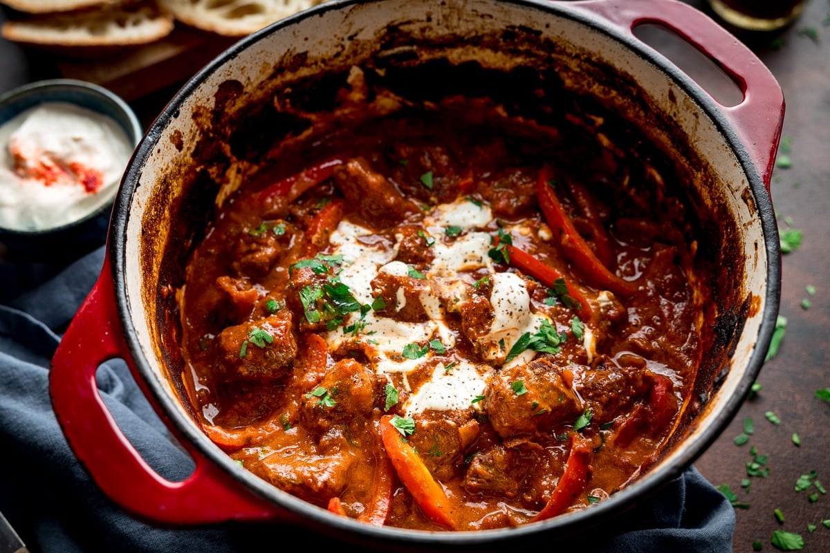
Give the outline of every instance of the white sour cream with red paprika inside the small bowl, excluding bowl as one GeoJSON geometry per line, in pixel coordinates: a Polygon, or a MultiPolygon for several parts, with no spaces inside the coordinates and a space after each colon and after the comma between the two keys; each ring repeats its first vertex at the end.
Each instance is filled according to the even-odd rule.
{"type": "Polygon", "coordinates": [[[133,144],[114,119],[64,102],[0,126],[0,226],[46,230],[110,201],[133,144]]]}

